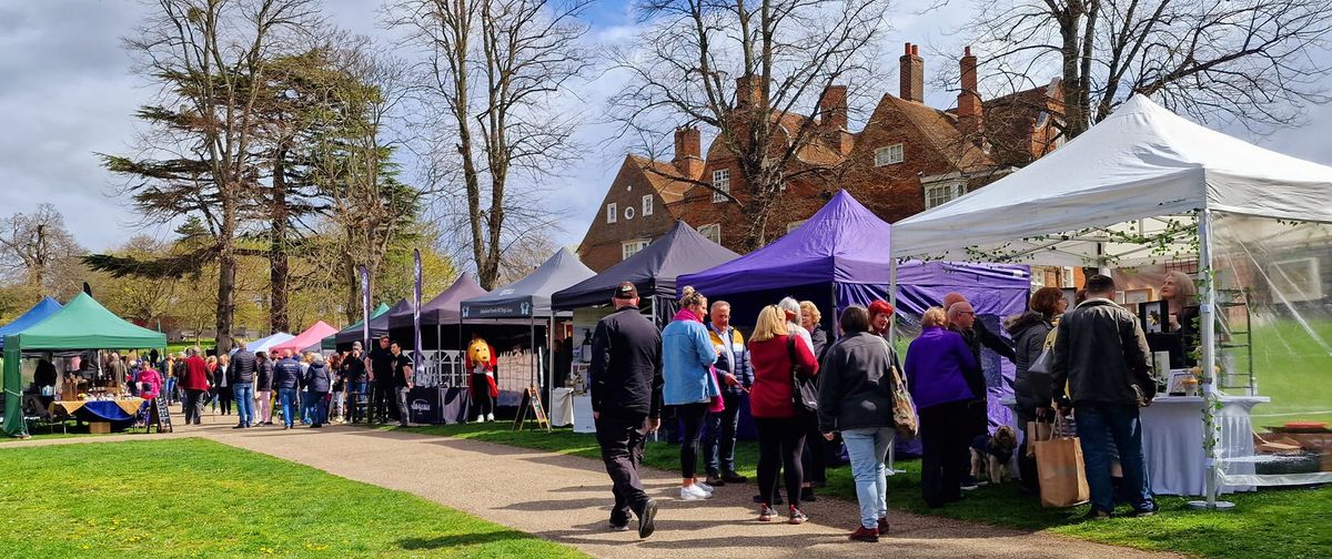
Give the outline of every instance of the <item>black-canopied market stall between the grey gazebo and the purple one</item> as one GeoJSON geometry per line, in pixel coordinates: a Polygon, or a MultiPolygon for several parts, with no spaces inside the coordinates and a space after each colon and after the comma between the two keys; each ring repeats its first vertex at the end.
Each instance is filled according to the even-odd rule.
{"type": "MultiPolygon", "coordinates": [[[[610,309],[610,297],[621,282],[627,281],[638,289],[639,310],[651,317],[657,327],[665,327],[679,307],[675,299],[677,277],[735,258],[739,258],[739,254],[703,237],[689,224],[677,221],[670,232],[637,254],[597,276],[555,291],[550,295],[550,301],[555,310],[574,311],[574,331],[582,333],[582,337],[586,338],[597,326],[595,321],[605,313],[614,310],[610,309]],[[601,311],[578,311],[589,307],[599,307],[601,311]]],[[[574,422],[574,402],[587,398],[585,393],[586,363],[591,355],[574,350],[574,357],[566,386],[554,387],[555,393],[559,394],[550,403],[551,423],[555,426],[567,425],[566,419],[574,422]],[[562,394],[566,391],[569,394],[562,394]]],[[[587,409],[591,407],[590,402],[579,402],[579,405],[583,403],[587,409]]]]}

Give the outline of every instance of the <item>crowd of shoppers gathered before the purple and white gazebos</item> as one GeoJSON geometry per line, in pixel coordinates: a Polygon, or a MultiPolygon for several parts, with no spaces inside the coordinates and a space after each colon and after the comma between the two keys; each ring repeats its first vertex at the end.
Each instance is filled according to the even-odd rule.
{"type": "MultiPolygon", "coordinates": [[[[663,417],[679,439],[681,500],[705,500],[719,486],[746,482],[737,472],[735,431],[747,394],[759,450],[758,520],[779,516],[774,507],[783,504],[785,486],[782,516],[790,524],[807,522],[805,503],[815,500],[826,467],[844,450],[860,506],[848,536],[876,542],[890,530],[886,459],[903,427],[894,419],[895,394],[910,398],[916,413],[907,430],[920,439],[926,504],[944,507],[982,483],[968,449],[994,453],[987,442],[1002,437],[991,433],[983,347],[1018,369],[1023,430],[1028,421],[1076,413],[1078,421],[1070,417],[1068,423],[1086,455],[1090,516],[1108,518],[1116,502],[1130,504],[1136,516],[1151,515],[1156,506],[1138,410],[1150,403],[1155,381],[1142,326],[1112,302],[1114,293],[1111,278],[1094,276],[1079,295],[1084,301],[1066,313],[1060,289],[1040,289],[1028,311],[1008,317],[1008,337],[979,321],[971,302],[952,293],[923,313],[920,334],[902,361],[888,334],[894,307],[886,301],[842,309],[830,343],[818,306],[785,298],[758,313],[746,342],[731,326],[726,301],[709,305],[702,293],[685,287],[679,311],[658,330],[639,313],[634,285],[621,283],[611,298],[615,310],[597,323],[589,363],[597,441],[615,502],[610,527],[629,530],[637,518],[641,538],[655,530],[658,506],[645,492],[638,467],[663,417]],[[1032,367],[1036,361],[1048,366],[1032,367]]],[[[1039,492],[1036,463],[1026,449],[1003,449],[996,458],[1006,465],[1016,451],[1027,492],[1039,492]]]]}

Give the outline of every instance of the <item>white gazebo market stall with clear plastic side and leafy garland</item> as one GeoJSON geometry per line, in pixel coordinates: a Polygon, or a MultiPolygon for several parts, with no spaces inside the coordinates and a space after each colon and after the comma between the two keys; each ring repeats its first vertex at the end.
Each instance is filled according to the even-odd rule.
{"type": "MultiPolygon", "coordinates": [[[[1173,467],[1195,476],[1184,486],[1189,491],[1204,487],[1207,504],[1213,506],[1221,487],[1332,480],[1332,471],[1261,474],[1287,458],[1236,441],[1251,439],[1252,433],[1232,429],[1227,435],[1223,429],[1223,418],[1249,413],[1243,402],[1227,411],[1225,398],[1256,395],[1259,385],[1223,386],[1231,375],[1217,374],[1221,363],[1233,370],[1245,367],[1247,361],[1257,379],[1268,374],[1288,375],[1287,381],[1311,387],[1325,383],[1332,369],[1325,330],[1320,331],[1328,318],[1321,290],[1325,282],[1311,270],[1308,257],[1297,254],[1332,246],[1329,222],[1332,168],[1253,146],[1134,96],[1108,118],[1027,168],[896,224],[892,254],[1107,272],[1139,264],[1187,268],[1192,262],[1196,272],[1191,277],[1199,286],[1196,374],[1203,399],[1192,443],[1200,453],[1185,457],[1195,463],[1173,467]],[[1280,242],[1283,238],[1299,242],[1291,248],[1280,242]],[[1291,264],[1295,258],[1304,258],[1299,276],[1292,273],[1301,270],[1291,264]],[[1269,337],[1267,343],[1263,331],[1269,337]],[[1296,374],[1292,371],[1308,377],[1289,377],[1296,374]],[[1196,483],[1197,475],[1201,483],[1196,483]]],[[[1154,421],[1154,414],[1144,414],[1144,423],[1154,421]]],[[[1144,431],[1148,429],[1154,427],[1144,425],[1144,431]]]]}

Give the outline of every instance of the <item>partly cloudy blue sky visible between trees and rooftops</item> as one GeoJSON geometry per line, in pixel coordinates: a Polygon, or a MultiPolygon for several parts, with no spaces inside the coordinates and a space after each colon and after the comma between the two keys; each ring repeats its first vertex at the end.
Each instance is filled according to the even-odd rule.
{"type": "MultiPolygon", "coordinates": [[[[341,28],[392,44],[394,32],[380,21],[378,0],[325,0],[325,16],[341,28]]],[[[132,73],[121,37],[131,35],[145,13],[136,0],[31,0],[0,1],[0,213],[31,212],[51,202],[65,216],[75,238],[89,250],[104,250],[131,236],[169,237],[174,216],[144,216],[113,198],[123,185],[99,164],[96,153],[131,153],[139,122],[136,108],[147,102],[151,84],[132,73]],[[145,224],[147,221],[147,224],[145,224]]],[[[924,45],[922,52],[955,43],[950,32],[968,16],[970,3],[954,0],[928,15],[892,17],[887,45],[904,41],[924,45]]],[[[599,1],[586,15],[589,39],[614,44],[633,35],[637,24],[630,5],[599,1]]],[[[884,68],[896,84],[896,51],[884,68]]],[[[927,75],[934,69],[926,55],[927,75]]],[[[951,61],[950,61],[951,64],[951,61]]],[[[593,110],[619,77],[607,73],[578,92],[593,110]]],[[[1329,80],[1332,84],[1332,80],[1329,80]]],[[[854,87],[854,85],[852,85],[854,87]]],[[[927,88],[930,85],[927,84],[927,88]]],[[[875,92],[895,93],[891,92],[875,92]]],[[[947,108],[955,93],[927,92],[926,102],[947,108]]],[[[1315,106],[1300,128],[1255,137],[1239,126],[1227,132],[1277,152],[1332,165],[1332,106],[1315,106]]],[[[593,122],[578,133],[587,146],[581,162],[553,181],[553,206],[571,216],[555,232],[559,245],[577,245],[625,153],[622,144],[602,140],[609,124],[593,122]]],[[[413,168],[408,161],[405,168],[413,168]]],[[[409,177],[410,178],[410,177],[409,177]]]]}

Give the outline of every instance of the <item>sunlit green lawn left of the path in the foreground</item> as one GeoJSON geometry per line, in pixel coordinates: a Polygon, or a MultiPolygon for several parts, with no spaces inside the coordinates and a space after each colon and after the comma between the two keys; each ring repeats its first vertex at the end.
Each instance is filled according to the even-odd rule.
{"type": "Polygon", "coordinates": [[[0,555],[583,556],[425,499],[202,439],[0,450],[0,555]]]}

